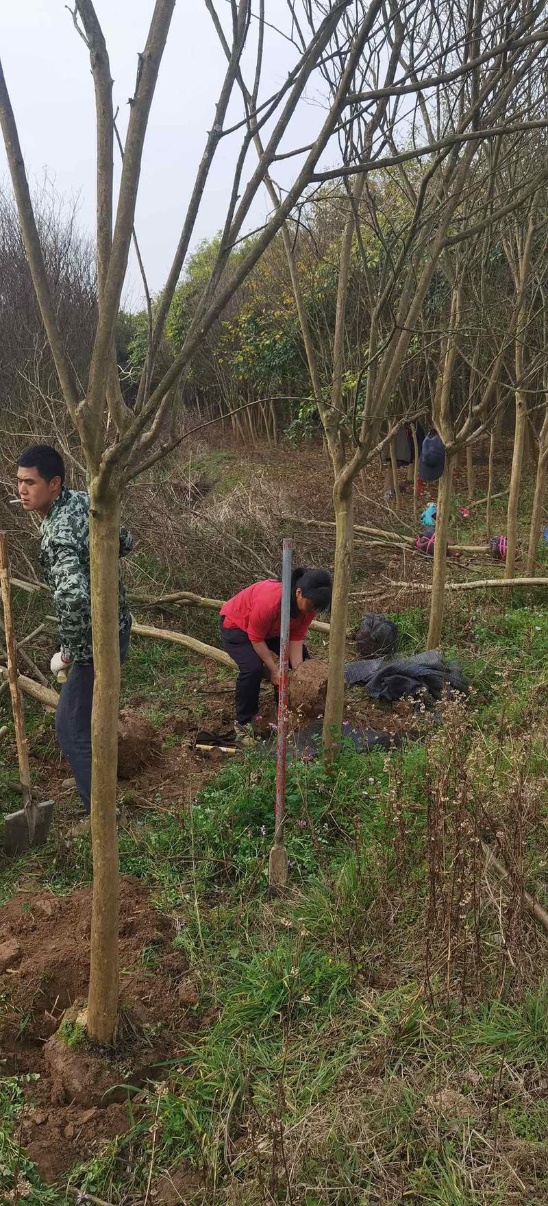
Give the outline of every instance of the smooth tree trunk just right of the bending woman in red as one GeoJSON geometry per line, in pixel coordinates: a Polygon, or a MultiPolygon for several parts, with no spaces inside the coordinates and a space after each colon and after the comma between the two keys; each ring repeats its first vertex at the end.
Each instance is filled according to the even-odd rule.
{"type": "Polygon", "coordinates": [[[344,706],[344,662],[348,620],[348,596],[350,592],[352,563],[354,555],[354,503],[352,482],[340,490],[334,487],[336,523],[334,589],[331,599],[331,625],[329,633],[329,679],[325,701],[323,744],[329,754],[341,739],[344,706]]]}

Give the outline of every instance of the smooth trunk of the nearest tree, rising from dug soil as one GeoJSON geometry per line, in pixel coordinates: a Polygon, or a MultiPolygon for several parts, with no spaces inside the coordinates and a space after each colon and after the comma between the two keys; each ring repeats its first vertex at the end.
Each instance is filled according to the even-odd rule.
{"type": "Polygon", "coordinates": [[[117,488],[96,497],[92,480],[89,566],[94,692],[92,713],[93,908],[87,1029],[96,1043],[113,1046],[118,1024],[118,558],[120,502],[117,488]]]}

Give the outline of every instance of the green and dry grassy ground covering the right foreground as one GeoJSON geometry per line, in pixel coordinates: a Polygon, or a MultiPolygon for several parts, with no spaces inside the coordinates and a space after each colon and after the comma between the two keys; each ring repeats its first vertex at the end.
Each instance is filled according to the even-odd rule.
{"type": "MultiPolygon", "coordinates": [[[[422,648],[424,613],[397,620],[405,649],[422,648]]],[[[151,1089],[131,1160],[126,1140],[112,1143],[75,1172],[78,1187],[140,1200],[154,1143],[154,1170],[207,1172],[198,1201],[548,1201],[546,937],[519,892],[524,880],[546,897],[546,611],[525,596],[461,596],[446,648],[473,695],[441,727],[424,719],[425,744],[290,768],[282,902],[266,895],[267,756],[226,766],[183,815],[171,797],[160,810],[159,792],[158,812],[123,829],[122,870],[178,919],[196,1036],[151,1089]],[[495,832],[515,883],[489,874],[479,895],[481,842],[495,832]]],[[[135,644],[125,693],[155,719],[196,684],[183,651],[135,644]]],[[[49,743],[49,720],[36,725],[49,743]]],[[[2,894],[29,872],[65,891],[89,879],[89,847],[70,867],[52,849],[12,866],[2,894]]],[[[0,1089],[0,1188],[19,1160],[31,1206],[72,1201],[19,1157],[20,1085],[0,1089]]]]}

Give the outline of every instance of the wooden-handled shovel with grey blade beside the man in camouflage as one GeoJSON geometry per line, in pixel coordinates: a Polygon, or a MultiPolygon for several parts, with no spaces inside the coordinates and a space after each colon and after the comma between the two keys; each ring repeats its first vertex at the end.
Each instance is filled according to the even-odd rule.
{"type": "Polygon", "coordinates": [[[17,813],[10,813],[4,819],[4,853],[12,856],[23,854],[25,850],[30,850],[33,845],[41,845],[47,841],[52,824],[53,800],[46,800],[40,804],[36,803],[30,788],[29,749],[26,745],[23,703],[17,681],[17,646],[11,610],[10,562],[5,532],[0,532],[0,586],[6,633],[7,677],[13,708],[13,724],[16,726],[17,757],[19,762],[20,792],[23,796],[23,808],[17,813]]]}

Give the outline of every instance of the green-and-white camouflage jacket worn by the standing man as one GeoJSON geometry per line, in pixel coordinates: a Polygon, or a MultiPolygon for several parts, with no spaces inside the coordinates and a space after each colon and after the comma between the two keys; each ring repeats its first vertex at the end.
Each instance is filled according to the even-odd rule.
{"type": "MultiPolygon", "coordinates": [[[[40,525],[40,564],[53,595],[64,657],[93,661],[92,596],[89,589],[89,494],[63,490],[40,525]]],[[[120,528],[120,557],[131,552],[134,541],[120,528]]],[[[130,624],[124,587],[119,582],[119,627],[130,624]]]]}

